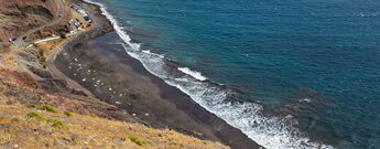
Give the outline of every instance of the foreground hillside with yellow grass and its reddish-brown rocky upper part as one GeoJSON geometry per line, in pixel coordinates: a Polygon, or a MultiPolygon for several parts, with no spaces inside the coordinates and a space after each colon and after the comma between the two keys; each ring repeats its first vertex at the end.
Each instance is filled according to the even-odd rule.
{"type": "Polygon", "coordinates": [[[33,79],[22,78],[30,77],[8,70],[0,73],[1,147],[225,148],[132,123],[133,118],[113,106],[77,95],[46,93],[33,79]]]}

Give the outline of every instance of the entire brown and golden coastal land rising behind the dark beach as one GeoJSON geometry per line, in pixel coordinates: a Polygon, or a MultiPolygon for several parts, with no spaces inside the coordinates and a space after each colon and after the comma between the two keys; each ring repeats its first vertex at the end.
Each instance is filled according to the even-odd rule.
{"type": "Polygon", "coordinates": [[[62,51],[113,30],[98,6],[76,0],[1,0],[0,20],[1,147],[228,148],[148,127],[55,68],[54,58],[62,51]],[[93,20],[75,34],[67,25],[77,14],[69,8],[73,2],[93,20]]]}

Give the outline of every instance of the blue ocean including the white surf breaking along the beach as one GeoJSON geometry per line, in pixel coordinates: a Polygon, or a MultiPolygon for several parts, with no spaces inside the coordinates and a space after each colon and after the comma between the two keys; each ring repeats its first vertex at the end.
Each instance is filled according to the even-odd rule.
{"type": "Polygon", "coordinates": [[[261,146],[380,148],[380,1],[93,1],[129,55],[261,146]]]}

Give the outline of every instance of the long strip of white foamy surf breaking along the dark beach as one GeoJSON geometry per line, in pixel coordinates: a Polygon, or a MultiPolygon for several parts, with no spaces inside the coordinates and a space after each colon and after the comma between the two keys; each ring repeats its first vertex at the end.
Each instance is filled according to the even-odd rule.
{"type": "MultiPolygon", "coordinates": [[[[333,148],[328,145],[312,142],[296,128],[292,127],[292,124],[296,124],[296,120],[294,120],[292,116],[284,118],[264,117],[261,114],[262,106],[259,104],[226,102],[229,94],[228,91],[221,89],[218,86],[206,82],[200,82],[202,79],[205,79],[204,77],[200,77],[202,79],[199,81],[192,78],[196,78],[197,76],[194,75],[194,72],[189,68],[182,68],[182,72],[187,72],[188,75],[174,77],[174,75],[171,75],[170,72],[165,71],[165,63],[162,55],[141,51],[140,44],[131,43],[130,36],[122,31],[122,28],[120,28],[115,18],[107,12],[107,8],[105,6],[89,0],[85,1],[100,6],[104,14],[113,23],[119,36],[128,44],[122,44],[127,53],[139,60],[150,73],[164,79],[169,85],[175,86],[186,93],[192,97],[192,99],[208,111],[225,119],[229,125],[240,129],[259,145],[269,149],[333,148]]],[[[202,76],[200,73],[199,76],[202,76]]]]}

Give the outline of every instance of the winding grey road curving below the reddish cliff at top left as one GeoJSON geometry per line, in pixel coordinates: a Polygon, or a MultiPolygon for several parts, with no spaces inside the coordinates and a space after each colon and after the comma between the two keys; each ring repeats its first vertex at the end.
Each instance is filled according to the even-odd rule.
{"type": "Polygon", "coordinates": [[[30,42],[25,42],[25,41],[23,40],[24,36],[29,36],[31,33],[34,33],[34,32],[36,32],[36,31],[39,31],[39,30],[42,30],[42,29],[46,28],[46,26],[56,25],[57,23],[59,23],[59,22],[62,21],[62,19],[64,18],[64,14],[65,14],[65,13],[64,13],[64,2],[63,2],[64,0],[55,0],[55,1],[56,1],[56,3],[58,4],[58,18],[55,19],[55,20],[53,20],[53,21],[50,22],[50,23],[46,23],[46,24],[44,24],[44,25],[34,28],[34,29],[29,30],[29,31],[24,32],[23,34],[19,35],[19,36],[15,39],[15,41],[14,41],[14,45],[15,45],[15,46],[26,46],[26,45],[29,45],[30,42]]]}

